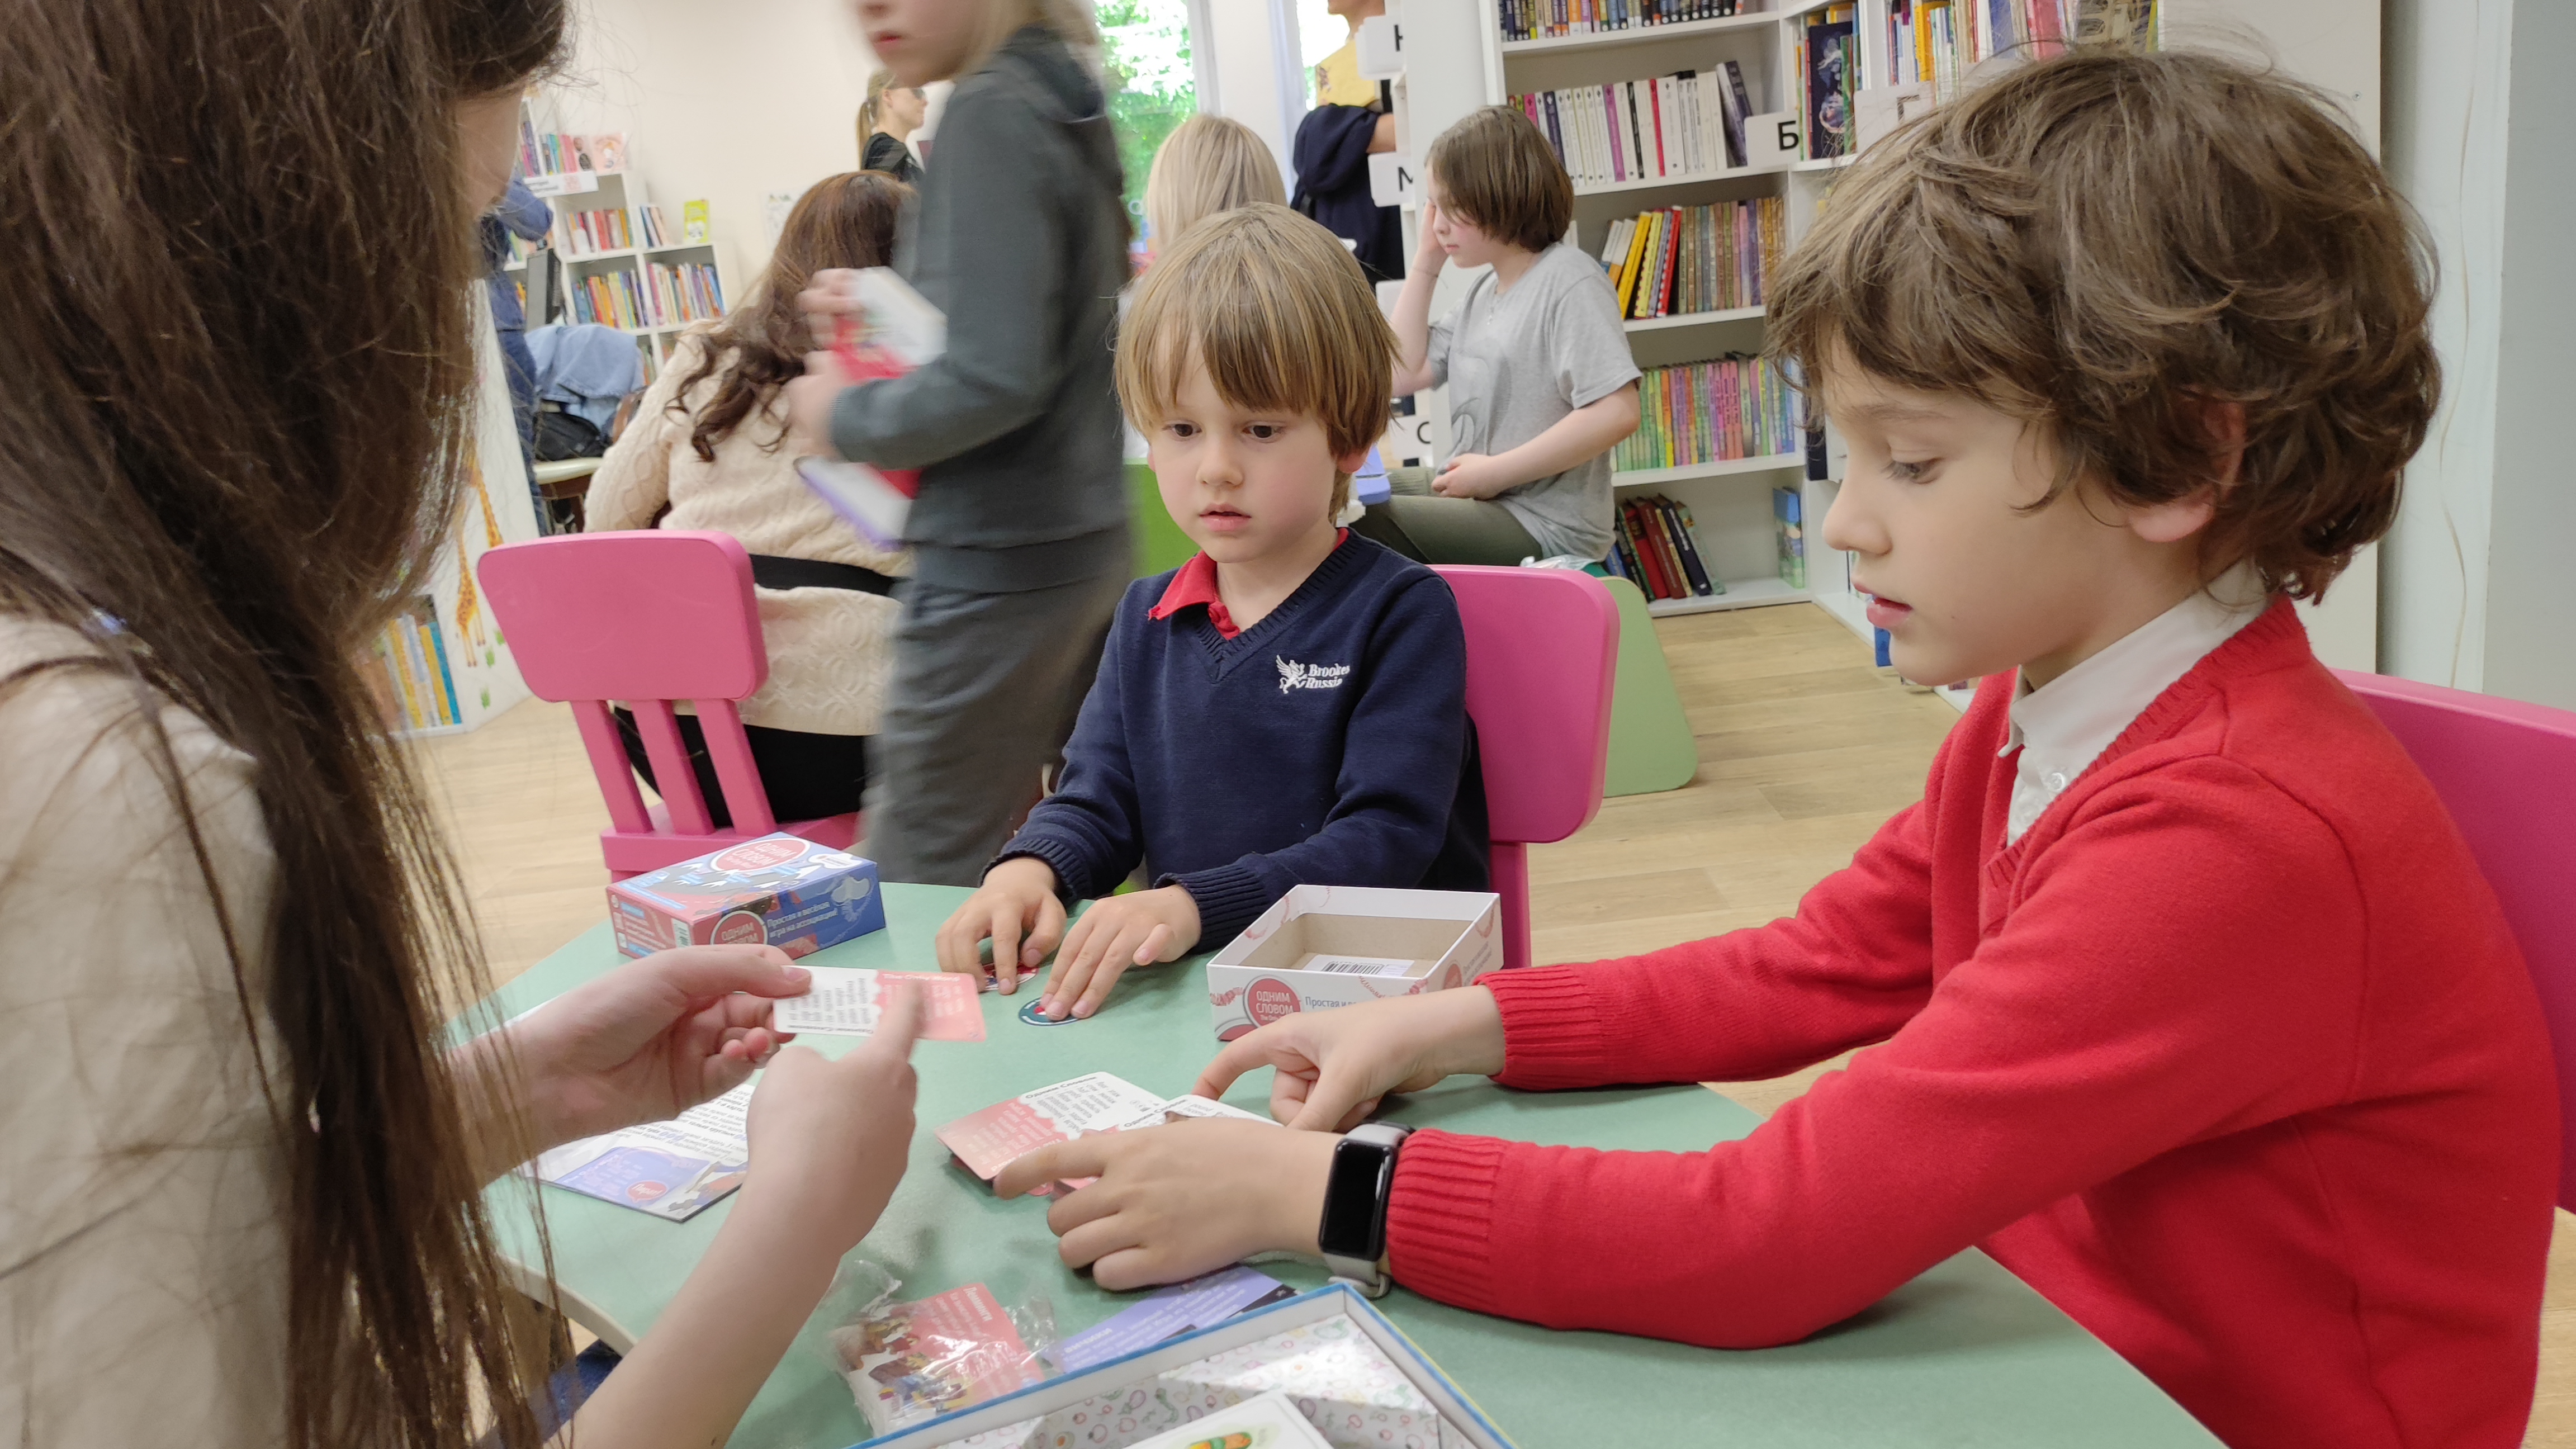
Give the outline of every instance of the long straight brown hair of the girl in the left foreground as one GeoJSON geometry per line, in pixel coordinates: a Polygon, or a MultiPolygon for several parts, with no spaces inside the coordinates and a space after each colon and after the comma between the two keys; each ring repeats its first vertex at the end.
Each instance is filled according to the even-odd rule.
{"type": "Polygon", "coordinates": [[[440,1052],[482,967],[355,655],[461,498],[456,103],[515,93],[562,34],[562,0],[82,0],[15,5],[0,46],[0,606],[98,650],[0,691],[129,681],[103,732],[144,730],[242,1024],[273,1026],[299,1449],[469,1441],[477,1374],[536,1441],[440,1052]],[[258,763],[265,923],[222,900],[162,699],[258,763]]]}

